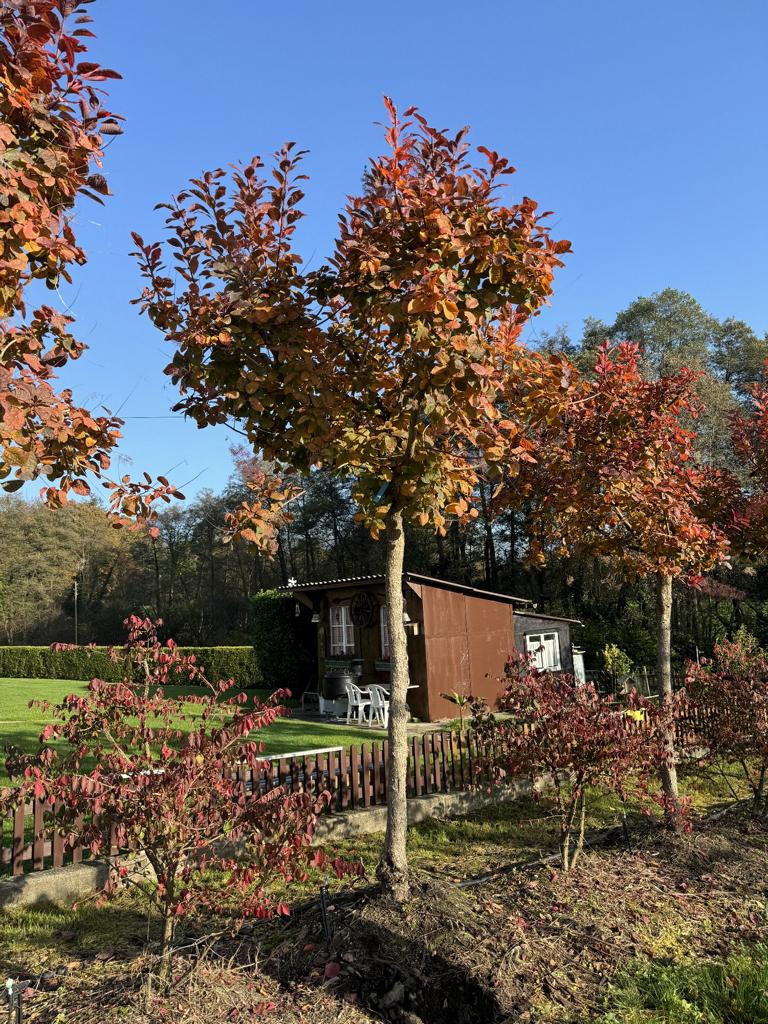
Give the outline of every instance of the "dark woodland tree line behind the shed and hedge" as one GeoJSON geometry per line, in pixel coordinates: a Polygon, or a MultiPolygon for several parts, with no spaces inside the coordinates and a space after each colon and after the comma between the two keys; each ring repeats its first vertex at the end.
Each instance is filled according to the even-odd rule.
{"type": "MultiPolygon", "coordinates": [[[[749,385],[762,374],[768,338],[741,321],[718,321],[692,296],[667,289],[637,299],[612,324],[588,318],[581,337],[561,328],[542,333],[538,344],[585,367],[606,338],[639,342],[649,377],[681,367],[700,374],[705,411],[694,424],[696,458],[732,470],[729,419],[744,408],[749,385]]],[[[651,585],[627,583],[596,558],[552,558],[542,568],[530,567],[526,555],[536,523],[524,508],[494,517],[490,490],[480,487],[480,515],[466,526],[453,522],[444,538],[409,527],[407,567],[527,597],[541,610],[580,618],[584,627],[575,640],[592,668],[602,667],[606,643],[616,643],[636,665],[651,665],[651,585]]],[[[162,617],[179,642],[216,644],[249,642],[251,598],[260,590],[292,578],[382,571],[382,545],[355,521],[348,489],[331,475],[319,471],[301,480],[274,558],[248,545],[222,543],[225,516],[246,498],[236,474],[221,494],[204,490],[162,513],[156,538],[113,529],[95,502],[52,511],[18,498],[0,500],[3,642],[73,639],[76,580],[81,642],[118,641],[122,621],[141,611],[162,617]]],[[[676,656],[710,652],[718,637],[741,625],[768,641],[767,585],[764,567],[737,563],[718,570],[702,591],[676,585],[676,656]]]]}

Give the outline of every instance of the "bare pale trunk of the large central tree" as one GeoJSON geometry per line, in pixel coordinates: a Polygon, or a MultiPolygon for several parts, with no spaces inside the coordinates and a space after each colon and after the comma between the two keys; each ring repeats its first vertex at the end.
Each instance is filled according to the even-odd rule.
{"type": "Polygon", "coordinates": [[[409,896],[408,854],[408,638],[402,625],[402,563],[406,535],[402,512],[393,508],[387,517],[386,601],[389,631],[389,762],[387,830],[378,876],[386,893],[404,902],[409,896]]]}

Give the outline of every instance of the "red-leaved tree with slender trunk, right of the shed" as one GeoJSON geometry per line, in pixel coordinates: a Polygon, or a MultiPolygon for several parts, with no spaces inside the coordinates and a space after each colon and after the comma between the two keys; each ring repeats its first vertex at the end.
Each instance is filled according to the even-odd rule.
{"type": "MultiPolygon", "coordinates": [[[[658,688],[672,701],[672,587],[722,562],[723,531],[700,511],[706,475],[692,464],[696,375],[648,380],[636,344],[603,344],[593,372],[574,387],[562,415],[539,429],[539,462],[524,468],[510,500],[523,494],[537,534],[531,559],[587,553],[629,579],[652,577],[656,590],[658,688]]],[[[674,735],[667,735],[664,791],[677,805],[674,735]]]]}

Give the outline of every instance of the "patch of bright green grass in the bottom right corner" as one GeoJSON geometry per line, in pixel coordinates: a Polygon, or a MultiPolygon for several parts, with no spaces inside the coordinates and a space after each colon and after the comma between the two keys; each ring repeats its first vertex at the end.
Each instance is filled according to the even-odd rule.
{"type": "Polygon", "coordinates": [[[636,964],[606,1001],[599,1024],[768,1024],[768,945],[708,964],[636,964]]]}

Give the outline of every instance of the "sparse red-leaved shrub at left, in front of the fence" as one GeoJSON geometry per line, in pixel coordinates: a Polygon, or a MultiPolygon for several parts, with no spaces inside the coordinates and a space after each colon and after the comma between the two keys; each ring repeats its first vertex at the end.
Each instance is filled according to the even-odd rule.
{"type": "MultiPolygon", "coordinates": [[[[251,703],[230,692],[233,680],[209,682],[195,655],[182,656],[172,641],[161,646],[158,625],[126,621],[127,645],[114,652],[125,665],[122,682],[93,679],[85,695],[40,705],[53,724],[42,730],[36,755],[11,753],[8,770],[20,784],[0,791],[0,809],[50,800],[53,824],[70,843],[104,857],[144,854],[152,878],[135,884],[162,918],[167,979],[174,929],[185,914],[288,913],[269,895],[271,883],[303,881],[310,866],[339,876],[357,867],[312,847],[328,793],[258,787],[265,762],[256,736],[285,714],[287,691],[251,703]],[[167,684],[187,682],[193,695],[167,695],[167,684]]],[[[128,874],[115,863],[105,896],[128,874]]]]}

